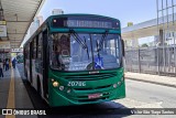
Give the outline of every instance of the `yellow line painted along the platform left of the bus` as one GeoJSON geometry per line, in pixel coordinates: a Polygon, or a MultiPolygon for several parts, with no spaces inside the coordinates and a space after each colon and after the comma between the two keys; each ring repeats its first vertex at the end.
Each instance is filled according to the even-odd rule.
{"type": "MultiPolygon", "coordinates": [[[[8,97],[8,105],[7,109],[15,108],[14,103],[14,71],[11,69],[11,81],[10,81],[10,88],[9,88],[9,97],[8,97]]],[[[6,118],[15,118],[15,115],[6,115],[6,118]]]]}

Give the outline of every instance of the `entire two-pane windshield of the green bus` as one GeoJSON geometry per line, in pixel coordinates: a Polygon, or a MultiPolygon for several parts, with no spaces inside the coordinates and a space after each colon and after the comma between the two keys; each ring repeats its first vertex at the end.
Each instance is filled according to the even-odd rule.
{"type": "Polygon", "coordinates": [[[94,71],[120,67],[119,34],[75,33],[52,34],[52,68],[94,71]]]}

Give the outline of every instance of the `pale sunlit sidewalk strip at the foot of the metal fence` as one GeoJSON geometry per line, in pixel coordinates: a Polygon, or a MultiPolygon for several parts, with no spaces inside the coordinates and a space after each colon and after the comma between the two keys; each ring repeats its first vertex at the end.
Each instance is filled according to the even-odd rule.
{"type": "Polygon", "coordinates": [[[124,73],[124,76],[127,79],[158,84],[158,85],[164,85],[164,86],[176,88],[176,77],[140,74],[140,73],[131,73],[131,72],[124,73]]]}

